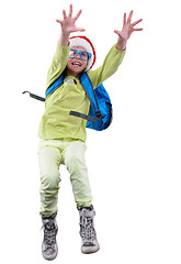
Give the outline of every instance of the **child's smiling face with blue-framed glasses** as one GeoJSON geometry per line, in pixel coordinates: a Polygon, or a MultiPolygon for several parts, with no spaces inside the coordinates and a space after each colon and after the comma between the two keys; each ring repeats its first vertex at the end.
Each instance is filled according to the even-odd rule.
{"type": "MultiPolygon", "coordinates": [[[[86,51],[83,47],[81,46],[75,46],[72,47],[73,50],[77,50],[77,51],[86,51]]],[[[75,76],[75,77],[78,77],[80,73],[82,73],[87,65],[88,65],[88,62],[87,61],[83,61],[82,58],[87,58],[84,56],[87,56],[87,54],[82,54],[81,57],[80,57],[80,54],[78,54],[76,57],[73,57],[73,51],[71,52],[71,55],[72,55],[72,58],[69,57],[68,58],[68,63],[67,63],[67,75],[70,75],[70,76],[75,76]]]]}

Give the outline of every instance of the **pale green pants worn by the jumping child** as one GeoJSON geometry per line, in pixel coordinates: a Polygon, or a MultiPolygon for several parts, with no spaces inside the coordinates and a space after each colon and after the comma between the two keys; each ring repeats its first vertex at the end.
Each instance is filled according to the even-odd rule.
{"type": "Polygon", "coordinates": [[[78,207],[92,205],[88,169],[84,161],[86,144],[72,140],[41,141],[38,161],[41,169],[41,212],[52,216],[57,211],[60,183],[59,166],[65,164],[78,207]]]}

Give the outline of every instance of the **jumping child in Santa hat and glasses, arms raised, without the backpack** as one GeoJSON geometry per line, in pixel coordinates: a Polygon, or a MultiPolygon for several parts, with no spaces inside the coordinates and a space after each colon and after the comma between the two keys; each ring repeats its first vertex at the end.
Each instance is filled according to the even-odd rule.
{"type": "Polygon", "coordinates": [[[73,32],[83,32],[77,28],[76,21],[81,10],[72,18],[72,6],[69,14],[63,11],[64,19],[57,20],[61,26],[57,51],[47,75],[49,88],[60,75],[64,84],[50,94],[45,103],[38,135],[41,138],[38,157],[41,168],[41,215],[44,228],[42,244],[43,256],[54,260],[58,246],[56,234],[57,199],[60,182],[59,165],[65,164],[70,174],[72,191],[80,215],[81,252],[93,253],[99,250],[93,224],[95,215],[92,206],[92,196],[84,161],[86,151],[86,120],[69,114],[70,110],[88,114],[90,101],[81,84],[80,75],[84,72],[97,88],[102,81],[113,75],[121,65],[125,55],[126,43],[142,20],[132,23],[133,11],[128,19],[124,14],[122,31],[114,31],[118,35],[117,43],[111,48],[104,63],[95,70],[91,70],[95,62],[95,52],[92,43],[84,36],[70,37],[73,32]]]}

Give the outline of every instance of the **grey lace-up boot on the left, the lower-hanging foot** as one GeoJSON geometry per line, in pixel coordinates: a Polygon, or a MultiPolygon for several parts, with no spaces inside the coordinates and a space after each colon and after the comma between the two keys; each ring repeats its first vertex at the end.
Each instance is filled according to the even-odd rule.
{"type": "Polygon", "coordinates": [[[56,223],[56,212],[50,217],[42,216],[44,240],[42,243],[42,254],[45,260],[53,261],[57,256],[58,246],[56,242],[56,234],[58,227],[56,223]]]}

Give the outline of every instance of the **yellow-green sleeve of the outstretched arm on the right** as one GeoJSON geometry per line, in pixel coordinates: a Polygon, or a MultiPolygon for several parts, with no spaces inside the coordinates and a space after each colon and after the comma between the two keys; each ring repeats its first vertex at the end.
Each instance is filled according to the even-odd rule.
{"type": "Polygon", "coordinates": [[[93,88],[97,88],[117,70],[124,58],[125,52],[126,51],[118,51],[114,45],[106,55],[102,66],[95,70],[88,72],[93,88]]]}

